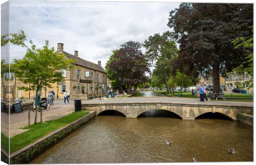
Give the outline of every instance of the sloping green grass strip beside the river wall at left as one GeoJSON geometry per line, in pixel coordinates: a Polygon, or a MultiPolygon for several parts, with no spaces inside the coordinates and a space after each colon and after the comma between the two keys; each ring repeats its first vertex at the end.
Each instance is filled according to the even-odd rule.
{"type": "MultiPolygon", "coordinates": [[[[23,148],[24,146],[33,143],[37,139],[44,137],[52,131],[59,129],[60,127],[64,127],[65,125],[72,123],[79,118],[89,114],[89,111],[78,111],[73,112],[70,115],[64,116],[57,120],[48,121],[45,123],[37,123],[36,125],[31,125],[30,130],[23,132],[21,134],[17,134],[10,139],[10,152],[23,148]]],[[[28,127],[24,127],[27,129],[28,127]]]]}

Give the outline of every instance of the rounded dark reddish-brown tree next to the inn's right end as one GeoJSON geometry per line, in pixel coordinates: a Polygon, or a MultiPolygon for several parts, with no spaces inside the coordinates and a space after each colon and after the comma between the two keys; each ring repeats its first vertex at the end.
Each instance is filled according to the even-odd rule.
{"type": "Polygon", "coordinates": [[[129,92],[133,85],[136,89],[137,85],[146,82],[145,73],[150,72],[147,59],[140,50],[141,47],[139,42],[125,42],[119,50],[113,51],[107,61],[106,71],[109,80],[127,84],[129,92]]]}

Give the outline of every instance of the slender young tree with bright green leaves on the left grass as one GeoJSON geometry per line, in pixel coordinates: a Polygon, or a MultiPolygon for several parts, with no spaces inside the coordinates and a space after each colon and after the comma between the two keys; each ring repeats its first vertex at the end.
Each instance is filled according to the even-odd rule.
{"type": "MultiPolygon", "coordinates": [[[[14,59],[13,62],[15,76],[19,77],[19,80],[24,84],[30,84],[30,87],[24,86],[21,89],[35,90],[37,95],[38,90],[43,87],[51,87],[52,83],[64,81],[62,68],[69,70],[73,67],[73,59],[67,59],[64,54],[57,53],[54,47],[49,48],[47,40],[42,49],[37,48],[32,41],[30,41],[31,47],[29,47],[25,43],[26,35],[24,31],[20,31],[19,34],[13,34],[10,41],[27,48],[24,57],[22,59],[14,59]]],[[[36,97],[36,103],[37,99],[38,97],[36,97]]],[[[35,113],[34,124],[36,124],[36,121],[37,113],[35,113]]]]}

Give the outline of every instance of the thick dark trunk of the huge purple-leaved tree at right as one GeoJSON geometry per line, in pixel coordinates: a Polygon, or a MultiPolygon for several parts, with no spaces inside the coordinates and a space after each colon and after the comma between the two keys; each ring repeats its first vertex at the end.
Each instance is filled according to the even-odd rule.
{"type": "Polygon", "coordinates": [[[220,64],[218,60],[213,60],[213,93],[220,93],[220,64]]]}

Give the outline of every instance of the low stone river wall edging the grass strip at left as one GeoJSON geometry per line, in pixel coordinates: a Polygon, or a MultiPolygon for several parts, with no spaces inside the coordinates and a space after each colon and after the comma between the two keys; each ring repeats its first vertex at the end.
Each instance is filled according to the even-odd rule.
{"type": "Polygon", "coordinates": [[[47,134],[45,137],[38,139],[32,144],[15,151],[10,155],[10,164],[25,164],[32,160],[40,153],[50,148],[52,145],[56,144],[58,141],[63,139],[66,135],[70,134],[74,130],[78,129],[81,125],[88,122],[96,116],[95,111],[90,112],[90,114],[80,118],[65,127],[59,128],[54,132],[47,134]]]}

